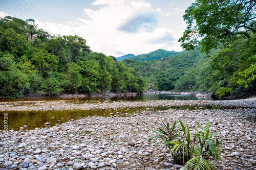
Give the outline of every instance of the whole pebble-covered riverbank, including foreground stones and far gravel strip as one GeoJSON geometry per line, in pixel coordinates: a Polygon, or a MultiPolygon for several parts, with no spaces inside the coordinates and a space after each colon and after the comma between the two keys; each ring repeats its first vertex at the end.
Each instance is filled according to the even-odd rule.
{"type": "MultiPolygon", "coordinates": [[[[181,120],[191,132],[196,123],[210,122],[211,132],[223,137],[222,160],[218,169],[246,169],[256,166],[256,100],[236,101],[146,101],[92,102],[24,101],[1,102],[0,110],[71,110],[113,109],[146,106],[130,117],[89,116],[55,127],[9,131],[0,135],[0,168],[12,169],[181,169],[174,164],[163,143],[147,139],[163,122],[181,120]],[[248,108],[224,110],[154,111],[152,106],[220,105],[248,108]],[[8,165],[4,163],[5,142],[8,140],[8,165]]],[[[255,169],[255,168],[254,168],[255,169]]]]}

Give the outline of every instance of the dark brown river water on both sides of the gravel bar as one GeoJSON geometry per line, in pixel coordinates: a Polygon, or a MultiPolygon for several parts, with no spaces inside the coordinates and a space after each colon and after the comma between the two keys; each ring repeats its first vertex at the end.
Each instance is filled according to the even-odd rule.
{"type": "MultiPolygon", "coordinates": [[[[173,95],[173,94],[144,94],[144,95],[127,95],[127,96],[102,96],[90,98],[32,98],[32,99],[7,99],[0,100],[0,102],[21,102],[21,101],[59,101],[67,100],[74,104],[81,104],[84,102],[99,101],[146,101],[146,100],[215,100],[213,98],[196,97],[194,95],[173,95]]],[[[19,103],[17,106],[22,106],[19,103]]],[[[167,110],[167,109],[181,109],[181,110],[196,110],[199,109],[223,109],[220,106],[173,106],[173,107],[156,107],[154,110],[167,110]]],[[[19,130],[20,127],[27,125],[24,130],[31,130],[35,128],[43,128],[46,122],[51,125],[62,124],[71,119],[79,119],[87,116],[129,116],[146,110],[151,107],[138,107],[138,108],[120,108],[118,110],[112,109],[92,109],[92,110],[59,110],[59,111],[5,111],[0,112],[0,130],[4,130],[4,113],[8,113],[8,129],[19,130]],[[117,113],[119,112],[119,113],[117,113]],[[126,114],[125,114],[126,113],[126,114]]]]}

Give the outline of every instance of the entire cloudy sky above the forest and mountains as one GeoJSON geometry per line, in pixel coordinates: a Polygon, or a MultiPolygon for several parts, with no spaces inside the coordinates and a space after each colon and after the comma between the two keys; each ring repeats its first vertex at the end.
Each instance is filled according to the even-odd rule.
{"type": "Polygon", "coordinates": [[[119,57],[182,51],[182,16],[193,0],[9,0],[0,16],[33,18],[53,35],[78,35],[94,52],[119,57]]]}

